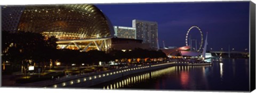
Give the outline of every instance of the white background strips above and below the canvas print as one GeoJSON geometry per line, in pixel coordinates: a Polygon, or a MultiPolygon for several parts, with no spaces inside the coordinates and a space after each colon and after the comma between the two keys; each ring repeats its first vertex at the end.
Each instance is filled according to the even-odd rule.
{"type": "MultiPolygon", "coordinates": [[[[157,2],[225,2],[227,0],[129,0],[129,1],[118,1],[118,0],[108,0],[108,1],[97,1],[97,0],[1,0],[0,5],[36,5],[36,4],[85,4],[85,3],[94,3],[94,4],[103,4],[103,3],[157,3],[157,2]]],[[[234,0],[237,1],[237,0],[234,0]]],[[[241,1],[241,0],[240,0],[241,1]]],[[[242,0],[244,1],[244,0],[242,0]]],[[[252,0],[253,3],[256,3],[256,0],[252,0]]],[[[43,89],[43,88],[0,88],[1,92],[61,92],[61,93],[70,93],[70,92],[104,92],[104,93],[113,93],[113,92],[171,92],[170,91],[149,91],[149,90],[94,90],[94,89],[43,89]]],[[[175,92],[199,92],[199,91],[175,91],[175,92]]],[[[218,92],[218,91],[203,91],[203,92],[218,92]]],[[[223,92],[223,91],[222,91],[223,92]]],[[[253,91],[254,93],[256,90],[253,91]]]]}

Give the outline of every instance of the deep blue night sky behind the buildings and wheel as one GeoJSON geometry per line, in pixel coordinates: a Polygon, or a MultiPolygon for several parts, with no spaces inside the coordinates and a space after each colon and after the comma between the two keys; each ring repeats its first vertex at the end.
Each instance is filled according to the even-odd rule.
{"type": "MultiPolygon", "coordinates": [[[[154,4],[97,4],[111,23],[117,26],[132,26],[132,20],[158,22],[159,46],[185,46],[186,33],[190,26],[197,25],[208,32],[207,49],[219,51],[235,48],[249,49],[249,2],[215,3],[154,3],[154,4]]],[[[189,33],[199,40],[197,29],[189,33]]],[[[197,42],[199,43],[199,42],[197,42]]]]}

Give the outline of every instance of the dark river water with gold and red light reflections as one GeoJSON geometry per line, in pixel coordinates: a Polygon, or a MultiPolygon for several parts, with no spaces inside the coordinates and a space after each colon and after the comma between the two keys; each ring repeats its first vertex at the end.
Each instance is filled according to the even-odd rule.
{"type": "Polygon", "coordinates": [[[249,91],[249,59],[212,63],[212,66],[173,66],[138,73],[92,88],[249,91]]]}

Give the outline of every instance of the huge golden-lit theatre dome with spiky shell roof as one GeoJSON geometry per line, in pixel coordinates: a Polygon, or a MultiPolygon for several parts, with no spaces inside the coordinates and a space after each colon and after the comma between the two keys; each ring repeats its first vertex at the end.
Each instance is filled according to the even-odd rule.
{"type": "Polygon", "coordinates": [[[81,51],[107,50],[114,29],[108,18],[94,5],[3,6],[2,30],[55,36],[58,48],[81,51]]]}

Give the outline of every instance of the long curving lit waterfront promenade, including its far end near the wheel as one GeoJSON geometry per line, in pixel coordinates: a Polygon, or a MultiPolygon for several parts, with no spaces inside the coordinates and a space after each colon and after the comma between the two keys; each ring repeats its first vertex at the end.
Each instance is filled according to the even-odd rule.
{"type": "Polygon", "coordinates": [[[155,69],[161,69],[171,66],[180,65],[209,65],[210,63],[203,64],[191,64],[189,62],[162,62],[162,63],[148,63],[140,64],[137,66],[125,66],[118,69],[108,71],[95,71],[90,73],[82,73],[80,75],[65,76],[57,78],[55,80],[44,80],[32,83],[17,84],[15,86],[25,87],[47,87],[47,88],[59,88],[59,87],[90,87],[99,83],[115,80],[124,76],[132,75],[139,72],[145,72],[155,69]]]}

